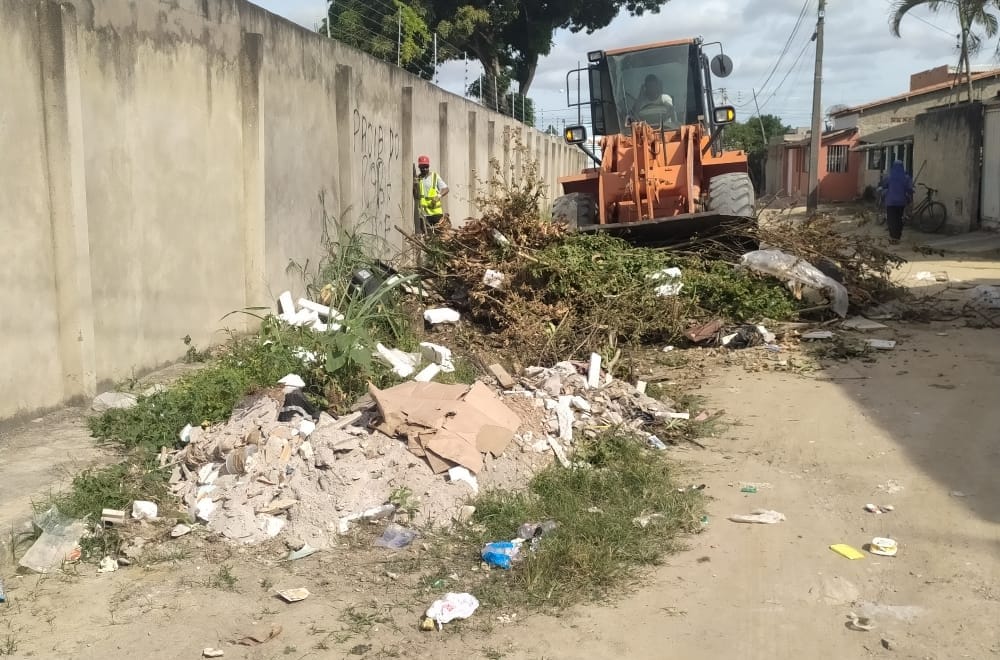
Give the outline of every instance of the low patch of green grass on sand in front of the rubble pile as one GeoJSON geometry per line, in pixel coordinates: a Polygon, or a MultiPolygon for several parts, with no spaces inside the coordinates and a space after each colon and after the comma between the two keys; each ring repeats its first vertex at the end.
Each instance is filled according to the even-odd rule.
{"type": "Polygon", "coordinates": [[[631,435],[609,432],[584,444],[577,459],[584,467],[554,465],[527,491],[488,491],[473,502],[476,542],[509,539],[526,522],[558,523],[511,571],[490,572],[475,591],[485,603],[557,609],[601,599],[637,567],[677,549],[678,535],[701,528],[700,493],[678,492],[663,455],[631,435]]]}

